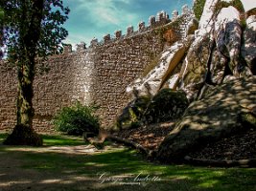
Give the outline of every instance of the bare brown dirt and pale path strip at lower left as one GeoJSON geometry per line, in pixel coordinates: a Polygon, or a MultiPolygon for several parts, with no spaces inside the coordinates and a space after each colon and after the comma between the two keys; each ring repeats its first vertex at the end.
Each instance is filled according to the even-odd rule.
{"type": "Polygon", "coordinates": [[[68,155],[94,155],[106,150],[116,149],[107,146],[105,150],[97,150],[92,145],[51,146],[40,149],[31,147],[8,147],[0,145],[0,191],[57,191],[57,190],[94,190],[101,186],[99,178],[78,175],[74,172],[52,173],[47,170],[24,168],[24,153],[57,153],[68,155]],[[2,148],[1,148],[2,147],[2,148]]]}

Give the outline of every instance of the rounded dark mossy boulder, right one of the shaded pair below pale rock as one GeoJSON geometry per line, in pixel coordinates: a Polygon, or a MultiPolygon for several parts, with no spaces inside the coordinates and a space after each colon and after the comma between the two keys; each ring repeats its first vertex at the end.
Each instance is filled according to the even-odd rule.
{"type": "Polygon", "coordinates": [[[181,117],[189,105],[184,92],[162,89],[152,97],[143,120],[146,123],[165,122],[181,117]]]}

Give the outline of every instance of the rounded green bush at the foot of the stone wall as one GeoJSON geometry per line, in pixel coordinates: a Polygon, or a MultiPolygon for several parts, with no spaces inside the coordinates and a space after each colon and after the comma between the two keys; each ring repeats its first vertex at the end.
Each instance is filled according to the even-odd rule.
{"type": "Polygon", "coordinates": [[[77,102],[71,107],[64,107],[54,117],[54,125],[58,131],[72,136],[81,136],[83,132],[99,134],[99,118],[94,115],[97,107],[83,106],[77,102]]]}

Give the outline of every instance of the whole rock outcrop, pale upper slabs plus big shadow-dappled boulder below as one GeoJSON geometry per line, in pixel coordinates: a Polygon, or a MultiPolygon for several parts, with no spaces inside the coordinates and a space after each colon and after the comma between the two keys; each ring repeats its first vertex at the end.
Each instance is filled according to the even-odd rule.
{"type": "Polygon", "coordinates": [[[255,128],[255,10],[254,1],[206,0],[186,38],[167,48],[148,75],[128,86],[133,96],[155,96],[168,82],[190,100],[161,143],[158,159],[180,161],[209,141],[255,128]]]}

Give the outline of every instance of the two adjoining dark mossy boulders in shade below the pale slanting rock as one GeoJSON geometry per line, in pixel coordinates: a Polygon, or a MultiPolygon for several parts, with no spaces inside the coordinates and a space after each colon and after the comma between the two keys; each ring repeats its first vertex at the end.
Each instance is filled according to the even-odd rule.
{"type": "Polygon", "coordinates": [[[132,129],[142,124],[165,122],[177,119],[184,114],[189,101],[182,91],[162,89],[152,98],[139,96],[117,117],[116,130],[132,129]]]}

